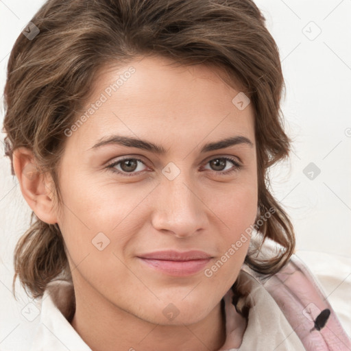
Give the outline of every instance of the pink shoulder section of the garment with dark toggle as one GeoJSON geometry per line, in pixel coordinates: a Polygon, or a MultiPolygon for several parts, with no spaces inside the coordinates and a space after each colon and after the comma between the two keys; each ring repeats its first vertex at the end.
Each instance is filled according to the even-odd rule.
{"type": "Polygon", "coordinates": [[[243,265],[243,271],[256,278],[274,298],[307,351],[351,350],[351,339],[343,330],[326,295],[297,256],[291,256],[284,268],[268,278],[247,265],[243,265]],[[324,311],[326,309],[330,311],[329,317],[328,312],[324,311]],[[318,322],[321,321],[320,330],[314,328],[316,319],[317,328],[320,328],[318,322]]]}

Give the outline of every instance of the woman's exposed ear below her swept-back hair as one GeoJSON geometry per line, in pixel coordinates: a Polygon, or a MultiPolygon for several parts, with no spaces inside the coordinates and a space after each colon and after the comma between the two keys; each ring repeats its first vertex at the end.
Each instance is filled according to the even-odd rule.
{"type": "Polygon", "coordinates": [[[47,175],[39,171],[32,150],[27,147],[14,149],[13,165],[22,195],[36,216],[45,223],[57,223],[50,187],[52,179],[49,176],[48,180],[47,175]]]}

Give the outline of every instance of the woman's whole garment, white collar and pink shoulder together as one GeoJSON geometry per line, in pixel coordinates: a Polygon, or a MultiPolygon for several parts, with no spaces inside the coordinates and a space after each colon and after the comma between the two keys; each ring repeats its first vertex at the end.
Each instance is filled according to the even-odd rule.
{"type": "MultiPolygon", "coordinates": [[[[351,340],[326,296],[295,255],[287,266],[270,278],[252,271],[247,265],[243,265],[238,278],[246,293],[238,304],[251,304],[247,329],[240,348],[234,348],[238,335],[233,291],[229,289],[223,297],[226,341],[221,351],[351,351],[351,340]],[[330,309],[330,316],[325,326],[320,331],[311,331],[315,325],[313,320],[326,308],[330,309]]],[[[41,304],[40,323],[31,351],[91,351],[70,324],[75,313],[72,282],[50,282],[41,304]]],[[[27,343],[23,346],[23,350],[26,349],[27,343]]]]}

